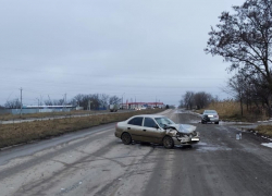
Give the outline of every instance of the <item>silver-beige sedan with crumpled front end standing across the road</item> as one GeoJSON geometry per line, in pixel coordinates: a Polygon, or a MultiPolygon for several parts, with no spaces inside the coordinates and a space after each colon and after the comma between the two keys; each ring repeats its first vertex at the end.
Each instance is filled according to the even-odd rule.
{"type": "Polygon", "coordinates": [[[116,123],[115,136],[125,145],[133,140],[154,143],[165,148],[175,145],[193,145],[200,140],[196,126],[175,124],[164,115],[134,115],[126,121],[116,123]]]}

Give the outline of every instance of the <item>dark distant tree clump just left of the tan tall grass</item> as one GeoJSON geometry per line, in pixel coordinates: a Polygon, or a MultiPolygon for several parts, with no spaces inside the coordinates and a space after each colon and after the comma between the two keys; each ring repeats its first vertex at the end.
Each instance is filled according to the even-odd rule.
{"type": "Polygon", "coordinates": [[[218,101],[218,97],[213,97],[211,94],[206,91],[186,91],[180,101],[180,107],[191,109],[202,109],[209,106],[212,101],[218,101]]]}

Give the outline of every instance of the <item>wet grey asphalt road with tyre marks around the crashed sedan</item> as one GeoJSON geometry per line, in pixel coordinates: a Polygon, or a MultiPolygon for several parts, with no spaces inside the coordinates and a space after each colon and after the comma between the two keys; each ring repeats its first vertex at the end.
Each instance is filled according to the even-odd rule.
{"type": "Polygon", "coordinates": [[[272,149],[268,139],[235,125],[199,124],[199,117],[170,111],[190,123],[201,142],[164,149],[125,146],[107,124],[0,151],[0,195],[270,196],[272,149]]]}

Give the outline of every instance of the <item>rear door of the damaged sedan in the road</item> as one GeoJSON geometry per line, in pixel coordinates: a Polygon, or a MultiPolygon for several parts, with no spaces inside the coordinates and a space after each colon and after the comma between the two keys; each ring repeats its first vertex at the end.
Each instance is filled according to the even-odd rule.
{"type": "Polygon", "coordinates": [[[135,117],[127,122],[127,132],[132,135],[133,140],[144,140],[143,138],[143,117],[135,117]]]}

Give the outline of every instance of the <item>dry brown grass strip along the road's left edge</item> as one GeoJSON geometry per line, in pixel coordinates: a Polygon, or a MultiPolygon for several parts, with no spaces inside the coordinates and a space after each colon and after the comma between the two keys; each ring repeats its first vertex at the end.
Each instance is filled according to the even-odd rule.
{"type": "Polygon", "coordinates": [[[141,110],[125,113],[97,114],[82,118],[53,119],[14,124],[0,124],[0,148],[49,138],[100,124],[124,121],[136,114],[158,113],[163,110],[141,110]]]}

